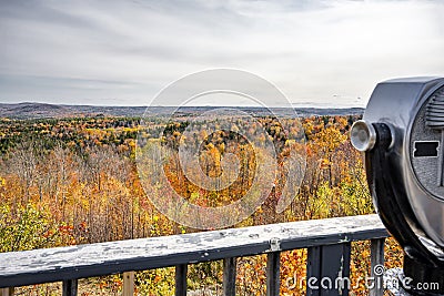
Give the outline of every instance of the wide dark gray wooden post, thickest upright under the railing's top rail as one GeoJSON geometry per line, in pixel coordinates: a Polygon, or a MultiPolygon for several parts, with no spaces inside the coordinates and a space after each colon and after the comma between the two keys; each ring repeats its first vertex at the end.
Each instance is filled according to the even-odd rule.
{"type": "Polygon", "coordinates": [[[350,257],[350,243],[310,247],[306,263],[306,295],[349,295],[350,257]]]}

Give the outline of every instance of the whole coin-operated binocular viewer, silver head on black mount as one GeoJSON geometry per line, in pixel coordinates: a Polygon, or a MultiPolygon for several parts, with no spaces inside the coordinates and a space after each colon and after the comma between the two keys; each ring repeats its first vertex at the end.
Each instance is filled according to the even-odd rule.
{"type": "Polygon", "coordinates": [[[377,84],[351,141],[365,152],[373,203],[404,249],[404,290],[444,295],[444,79],[377,84]]]}

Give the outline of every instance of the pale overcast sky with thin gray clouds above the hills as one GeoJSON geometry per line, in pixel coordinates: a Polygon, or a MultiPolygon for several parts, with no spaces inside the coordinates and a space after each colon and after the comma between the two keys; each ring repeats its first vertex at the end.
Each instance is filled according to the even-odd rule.
{"type": "Polygon", "coordinates": [[[364,106],[385,79],[444,75],[443,16],[440,0],[0,0],[0,102],[148,105],[234,68],[295,104],[364,106]]]}

